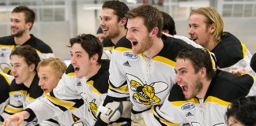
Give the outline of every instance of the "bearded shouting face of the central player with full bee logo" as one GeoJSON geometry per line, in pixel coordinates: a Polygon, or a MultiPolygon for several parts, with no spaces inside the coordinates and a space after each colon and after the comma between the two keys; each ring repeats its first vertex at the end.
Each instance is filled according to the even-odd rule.
{"type": "Polygon", "coordinates": [[[152,47],[152,32],[149,32],[145,27],[143,18],[129,19],[127,28],[126,38],[130,40],[134,54],[141,54],[152,47]]]}

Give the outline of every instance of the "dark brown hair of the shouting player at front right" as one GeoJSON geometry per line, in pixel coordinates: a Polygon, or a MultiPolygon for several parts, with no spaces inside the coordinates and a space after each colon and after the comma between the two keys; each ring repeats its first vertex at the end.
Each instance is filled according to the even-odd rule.
{"type": "Polygon", "coordinates": [[[184,49],[179,51],[178,58],[184,60],[189,59],[194,66],[195,73],[198,73],[200,69],[205,67],[208,80],[211,80],[215,76],[216,71],[213,69],[215,66],[213,65],[211,54],[206,49],[184,49]]]}

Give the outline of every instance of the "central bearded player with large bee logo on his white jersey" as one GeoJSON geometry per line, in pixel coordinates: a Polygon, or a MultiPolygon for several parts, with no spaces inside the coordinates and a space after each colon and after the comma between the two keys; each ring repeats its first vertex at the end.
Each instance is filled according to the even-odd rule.
{"type": "Polygon", "coordinates": [[[142,118],[148,117],[145,111],[161,105],[175,84],[173,68],[179,50],[193,48],[181,39],[162,35],[162,15],[153,6],[138,6],[126,17],[127,39],[120,39],[113,50],[110,87],[98,109],[97,126],[119,119],[127,113],[123,110],[129,102],[133,103],[134,123],[143,125],[142,118]]]}

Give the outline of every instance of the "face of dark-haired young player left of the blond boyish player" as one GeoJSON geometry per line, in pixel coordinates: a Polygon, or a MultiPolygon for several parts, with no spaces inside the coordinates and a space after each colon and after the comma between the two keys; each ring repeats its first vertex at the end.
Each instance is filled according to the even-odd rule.
{"type": "Polygon", "coordinates": [[[12,65],[11,72],[17,84],[28,83],[36,68],[34,64],[28,65],[24,57],[18,55],[12,55],[10,57],[10,64],[12,65]]]}

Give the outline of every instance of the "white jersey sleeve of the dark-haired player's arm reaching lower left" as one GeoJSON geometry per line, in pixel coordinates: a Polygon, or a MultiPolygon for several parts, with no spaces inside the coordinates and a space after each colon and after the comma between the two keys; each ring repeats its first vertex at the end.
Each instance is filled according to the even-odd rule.
{"type": "Polygon", "coordinates": [[[57,117],[68,109],[77,109],[84,104],[76,88],[76,85],[81,83],[72,75],[73,72],[64,74],[53,91],[28,105],[28,108],[36,114],[38,123],[57,117]]]}

